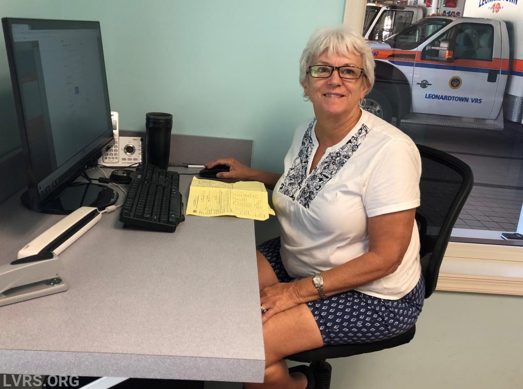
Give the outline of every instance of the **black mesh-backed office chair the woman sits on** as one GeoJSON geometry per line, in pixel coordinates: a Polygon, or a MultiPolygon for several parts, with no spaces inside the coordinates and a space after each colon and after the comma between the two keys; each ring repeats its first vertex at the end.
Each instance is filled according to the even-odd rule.
{"type": "MultiPolygon", "coordinates": [[[[422,160],[419,182],[421,204],[416,209],[420,239],[420,261],[425,278],[425,299],[436,289],[439,267],[449,242],[452,227],[469,196],[474,182],[472,170],[464,162],[445,152],[417,145],[422,160]]],[[[391,339],[366,344],[324,346],[292,354],[286,359],[311,363],[315,389],[331,386],[331,365],[326,359],[350,357],[406,344],[416,326],[391,339]]]]}

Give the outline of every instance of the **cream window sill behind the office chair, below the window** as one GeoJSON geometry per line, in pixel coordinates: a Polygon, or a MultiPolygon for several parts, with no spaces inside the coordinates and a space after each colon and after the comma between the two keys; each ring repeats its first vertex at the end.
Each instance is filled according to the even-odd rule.
{"type": "Polygon", "coordinates": [[[523,243],[504,241],[501,232],[469,231],[479,235],[474,242],[452,231],[436,290],[523,295],[523,243]]]}

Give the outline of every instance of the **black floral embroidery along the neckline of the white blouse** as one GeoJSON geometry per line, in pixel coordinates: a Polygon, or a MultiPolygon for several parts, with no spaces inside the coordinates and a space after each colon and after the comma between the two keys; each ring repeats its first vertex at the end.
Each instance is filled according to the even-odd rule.
{"type": "Polygon", "coordinates": [[[367,125],[362,124],[360,129],[356,134],[351,136],[347,143],[342,145],[338,150],[325,156],[322,163],[316,165],[312,170],[310,177],[306,180],[305,185],[296,196],[295,193],[301,187],[303,180],[307,177],[307,166],[309,163],[309,157],[312,154],[311,132],[314,123],[315,119],[311,122],[309,128],[303,135],[303,141],[298,156],[294,158],[294,162],[279,189],[280,193],[286,194],[291,199],[298,199],[300,204],[305,208],[310,207],[316,194],[322,190],[327,182],[331,180],[336,173],[338,173],[339,169],[345,165],[348,159],[353,156],[369,132],[367,125]]]}

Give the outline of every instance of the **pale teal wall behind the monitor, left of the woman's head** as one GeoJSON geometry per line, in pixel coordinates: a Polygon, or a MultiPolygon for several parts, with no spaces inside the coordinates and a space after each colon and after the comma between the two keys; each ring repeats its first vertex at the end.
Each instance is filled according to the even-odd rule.
{"type": "MultiPolygon", "coordinates": [[[[0,1],[2,16],[100,21],[111,109],[120,113],[120,128],[143,130],[146,112],[170,112],[175,133],[254,140],[253,165],[271,170],[281,170],[295,127],[313,115],[298,82],[301,51],[315,28],[342,22],[345,4],[0,1]]],[[[8,96],[0,46],[0,93],[8,96]]],[[[10,120],[1,135],[11,141],[0,155],[19,143],[8,105],[10,120]]]]}

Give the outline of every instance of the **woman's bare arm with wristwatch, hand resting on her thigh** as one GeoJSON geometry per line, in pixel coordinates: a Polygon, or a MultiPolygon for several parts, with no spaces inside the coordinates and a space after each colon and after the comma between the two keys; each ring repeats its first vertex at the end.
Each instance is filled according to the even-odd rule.
{"type": "MultiPolygon", "coordinates": [[[[327,296],[342,293],[388,276],[401,264],[411,242],[416,209],[386,213],[368,219],[369,251],[321,273],[327,296]]],[[[295,305],[319,298],[312,277],[277,283],[260,291],[267,318],[295,305]]],[[[264,315],[266,316],[266,315],[264,315]]]]}

